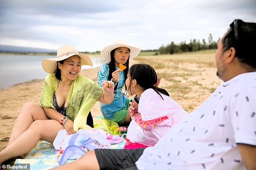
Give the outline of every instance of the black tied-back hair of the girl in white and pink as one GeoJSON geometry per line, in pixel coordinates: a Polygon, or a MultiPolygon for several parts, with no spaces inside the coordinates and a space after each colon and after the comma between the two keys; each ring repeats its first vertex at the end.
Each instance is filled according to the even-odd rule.
{"type": "MultiPolygon", "coordinates": [[[[130,77],[129,90],[132,84],[131,80],[136,80],[137,84],[141,86],[143,90],[152,88],[160,96],[161,96],[160,93],[166,96],[170,96],[165,89],[154,86],[157,82],[157,74],[155,70],[148,64],[141,63],[141,64],[132,65],[129,70],[129,77],[130,77]]],[[[161,98],[164,100],[162,96],[161,98]]]]}

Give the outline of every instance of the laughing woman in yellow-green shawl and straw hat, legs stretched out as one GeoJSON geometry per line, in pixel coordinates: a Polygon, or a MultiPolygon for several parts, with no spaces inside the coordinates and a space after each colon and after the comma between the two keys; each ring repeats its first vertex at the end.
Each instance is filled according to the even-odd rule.
{"type": "Polygon", "coordinates": [[[90,57],[78,53],[73,45],[63,45],[57,57],[44,59],[42,67],[50,73],[44,80],[40,105],[23,105],[7,147],[0,152],[0,164],[29,152],[39,140],[53,142],[58,131],[66,129],[73,134],[87,128],[86,119],[92,106],[99,100],[113,101],[113,82],[96,82],[81,76],[82,65],[92,66],[90,57]]]}

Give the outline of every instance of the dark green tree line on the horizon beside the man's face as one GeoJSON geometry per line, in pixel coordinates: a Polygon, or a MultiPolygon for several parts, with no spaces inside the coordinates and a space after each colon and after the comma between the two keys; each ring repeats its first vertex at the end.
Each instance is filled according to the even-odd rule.
{"type": "Polygon", "coordinates": [[[191,39],[187,44],[186,41],[181,41],[179,44],[175,44],[172,41],[170,44],[162,45],[159,48],[160,54],[173,54],[173,53],[181,53],[181,52],[189,52],[189,51],[200,51],[204,49],[216,49],[217,43],[213,41],[212,34],[209,34],[208,43],[203,39],[202,42],[200,40],[191,39]]]}

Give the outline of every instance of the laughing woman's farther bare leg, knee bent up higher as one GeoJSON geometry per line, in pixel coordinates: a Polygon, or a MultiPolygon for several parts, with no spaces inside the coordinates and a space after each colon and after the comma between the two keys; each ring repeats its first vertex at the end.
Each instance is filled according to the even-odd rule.
{"type": "Polygon", "coordinates": [[[45,115],[43,108],[39,104],[33,102],[26,102],[23,104],[23,107],[21,108],[21,111],[14,123],[13,131],[10,135],[7,146],[13,143],[15,139],[25,132],[34,121],[47,119],[49,118],[45,115]]]}

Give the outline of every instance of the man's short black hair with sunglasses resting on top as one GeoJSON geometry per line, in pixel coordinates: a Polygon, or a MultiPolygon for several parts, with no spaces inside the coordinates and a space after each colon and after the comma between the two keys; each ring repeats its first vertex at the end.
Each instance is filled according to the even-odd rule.
{"type": "Polygon", "coordinates": [[[235,57],[241,63],[256,68],[256,23],[243,22],[237,19],[231,23],[230,28],[222,39],[222,51],[235,48],[235,57]]]}

